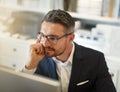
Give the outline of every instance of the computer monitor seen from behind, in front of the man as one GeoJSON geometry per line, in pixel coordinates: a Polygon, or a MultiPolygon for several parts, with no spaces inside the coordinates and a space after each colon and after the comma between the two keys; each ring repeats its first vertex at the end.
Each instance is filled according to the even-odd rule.
{"type": "Polygon", "coordinates": [[[60,83],[0,66],[0,92],[60,92],[60,83]]]}

